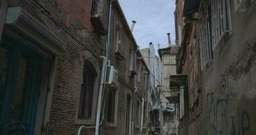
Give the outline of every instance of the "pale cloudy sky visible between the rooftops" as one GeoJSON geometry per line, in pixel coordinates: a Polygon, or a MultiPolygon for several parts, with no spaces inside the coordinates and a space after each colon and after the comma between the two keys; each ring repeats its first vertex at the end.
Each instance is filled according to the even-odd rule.
{"type": "Polygon", "coordinates": [[[140,49],[152,42],[157,49],[168,46],[167,33],[170,32],[172,41],[175,40],[174,10],[175,0],[119,0],[131,26],[132,20],[137,23],[134,27],[134,38],[140,49]]]}

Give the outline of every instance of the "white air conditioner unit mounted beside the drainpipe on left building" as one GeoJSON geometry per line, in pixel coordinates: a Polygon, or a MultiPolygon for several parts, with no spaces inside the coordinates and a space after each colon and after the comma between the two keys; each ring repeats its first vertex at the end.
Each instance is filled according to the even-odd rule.
{"type": "Polygon", "coordinates": [[[112,65],[107,65],[105,84],[112,85],[117,83],[118,83],[118,71],[116,71],[112,65]]]}

